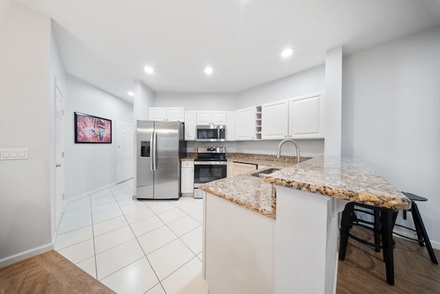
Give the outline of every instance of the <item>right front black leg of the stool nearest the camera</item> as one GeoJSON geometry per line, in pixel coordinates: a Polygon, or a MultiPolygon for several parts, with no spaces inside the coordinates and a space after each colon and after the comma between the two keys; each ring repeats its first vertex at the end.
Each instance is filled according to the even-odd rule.
{"type": "Polygon", "coordinates": [[[382,245],[384,246],[384,262],[386,282],[394,285],[394,258],[393,258],[393,211],[382,211],[382,245]]]}

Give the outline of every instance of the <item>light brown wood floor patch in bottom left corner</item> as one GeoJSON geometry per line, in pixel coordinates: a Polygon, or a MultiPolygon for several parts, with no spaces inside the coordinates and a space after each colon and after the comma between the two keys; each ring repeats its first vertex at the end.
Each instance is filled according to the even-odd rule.
{"type": "Polygon", "coordinates": [[[114,293],[56,251],[0,269],[0,293],[114,293]]]}

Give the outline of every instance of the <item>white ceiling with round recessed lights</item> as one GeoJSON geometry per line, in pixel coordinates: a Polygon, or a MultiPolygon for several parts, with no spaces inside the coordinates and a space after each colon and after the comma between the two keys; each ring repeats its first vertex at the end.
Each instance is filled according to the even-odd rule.
{"type": "Polygon", "coordinates": [[[320,65],[331,48],[440,25],[439,0],[14,1],[55,21],[69,74],[121,98],[135,79],[155,92],[240,92],[320,65]]]}

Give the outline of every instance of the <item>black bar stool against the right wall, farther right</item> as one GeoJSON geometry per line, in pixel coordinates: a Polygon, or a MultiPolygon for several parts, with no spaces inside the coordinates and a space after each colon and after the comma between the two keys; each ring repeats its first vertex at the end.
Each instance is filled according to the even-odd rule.
{"type": "Polygon", "coordinates": [[[428,253],[429,253],[429,257],[431,258],[431,262],[434,264],[439,264],[439,262],[437,262],[437,258],[435,258],[434,250],[432,250],[431,242],[428,238],[428,233],[426,233],[426,229],[423,224],[423,220],[421,220],[420,212],[419,212],[419,209],[417,208],[417,204],[415,202],[415,201],[428,201],[428,199],[414,195],[412,193],[407,193],[407,192],[401,192],[401,193],[404,193],[404,195],[406,197],[408,197],[409,200],[411,200],[411,208],[408,210],[404,210],[404,220],[406,220],[406,212],[410,211],[411,215],[412,215],[412,220],[414,221],[415,229],[405,227],[401,224],[395,224],[395,226],[414,231],[415,233],[417,233],[417,239],[410,238],[410,237],[407,237],[406,235],[401,235],[399,233],[394,232],[395,235],[399,235],[402,238],[406,238],[408,240],[413,240],[413,241],[419,242],[420,246],[426,246],[426,249],[428,250],[428,253]]]}

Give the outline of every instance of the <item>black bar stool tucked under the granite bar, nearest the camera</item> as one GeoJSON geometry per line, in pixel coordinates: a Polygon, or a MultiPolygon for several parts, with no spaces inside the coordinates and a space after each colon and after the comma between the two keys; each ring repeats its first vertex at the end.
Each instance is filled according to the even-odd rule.
{"type": "Polygon", "coordinates": [[[367,244],[373,247],[376,251],[383,249],[383,256],[386,269],[386,282],[390,285],[394,285],[394,258],[393,258],[393,224],[397,218],[397,210],[386,209],[382,207],[373,207],[371,205],[349,202],[345,205],[344,211],[342,211],[341,229],[340,229],[340,247],[339,247],[339,259],[345,259],[345,252],[349,237],[354,240],[367,244]],[[369,209],[366,211],[364,209],[369,209]],[[374,221],[369,222],[358,218],[356,211],[362,213],[368,213],[373,216],[374,221]],[[370,226],[371,227],[370,227],[370,226]],[[352,226],[363,227],[374,232],[375,242],[368,242],[362,240],[350,233],[352,226]],[[382,240],[382,244],[381,241],[382,240]]]}

